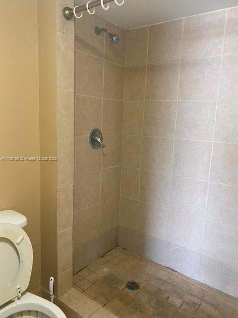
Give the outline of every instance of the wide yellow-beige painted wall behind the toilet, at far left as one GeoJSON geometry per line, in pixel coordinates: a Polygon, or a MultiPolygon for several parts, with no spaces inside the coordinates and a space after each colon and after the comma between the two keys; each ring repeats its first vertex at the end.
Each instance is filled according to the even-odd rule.
{"type": "MultiPolygon", "coordinates": [[[[39,156],[37,1],[0,5],[0,157],[39,156]],[[30,12],[30,14],[29,14],[30,12]]],[[[29,290],[40,284],[40,163],[0,161],[0,210],[28,219],[34,251],[29,290]]]]}

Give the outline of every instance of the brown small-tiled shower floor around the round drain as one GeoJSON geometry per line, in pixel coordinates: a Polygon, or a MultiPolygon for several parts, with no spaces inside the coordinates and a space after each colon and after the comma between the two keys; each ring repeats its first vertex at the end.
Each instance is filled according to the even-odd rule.
{"type": "Polygon", "coordinates": [[[74,289],[107,310],[105,318],[238,318],[238,299],[120,247],[73,281],[74,289]],[[139,283],[140,289],[127,290],[128,281],[139,283]]]}

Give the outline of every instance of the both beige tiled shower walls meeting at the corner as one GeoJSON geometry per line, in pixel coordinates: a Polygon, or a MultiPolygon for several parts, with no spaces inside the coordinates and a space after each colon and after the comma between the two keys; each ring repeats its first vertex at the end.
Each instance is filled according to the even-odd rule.
{"type": "Polygon", "coordinates": [[[74,273],[119,245],[238,296],[237,19],[76,21],[74,273]]]}

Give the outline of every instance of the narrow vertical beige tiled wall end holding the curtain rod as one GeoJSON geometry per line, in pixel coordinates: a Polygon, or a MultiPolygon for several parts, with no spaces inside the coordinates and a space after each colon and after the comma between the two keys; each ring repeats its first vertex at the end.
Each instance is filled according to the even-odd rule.
{"type": "Polygon", "coordinates": [[[72,286],[74,171],[74,21],[62,15],[73,0],[57,0],[58,296],[72,286]]]}

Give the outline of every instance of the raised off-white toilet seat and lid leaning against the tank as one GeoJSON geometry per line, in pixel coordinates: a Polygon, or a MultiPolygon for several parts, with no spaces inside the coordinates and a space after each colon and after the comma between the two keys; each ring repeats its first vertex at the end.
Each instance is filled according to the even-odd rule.
{"type": "Polygon", "coordinates": [[[30,281],[32,245],[18,226],[0,223],[0,306],[19,298],[30,281]]]}

